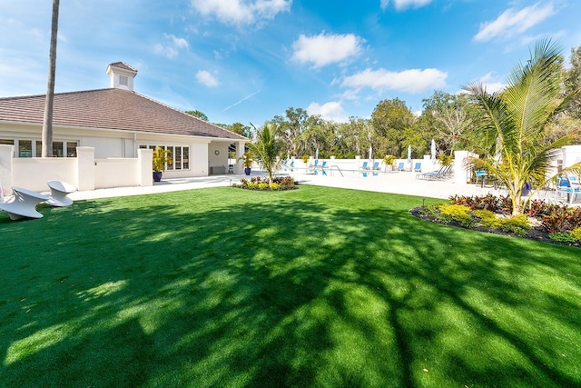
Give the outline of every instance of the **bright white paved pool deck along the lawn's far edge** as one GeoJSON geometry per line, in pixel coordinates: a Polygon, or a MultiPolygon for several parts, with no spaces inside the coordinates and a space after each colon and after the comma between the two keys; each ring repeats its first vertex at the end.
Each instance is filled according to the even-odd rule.
{"type": "MultiPolygon", "coordinates": [[[[353,190],[366,190],[380,193],[408,194],[422,197],[448,199],[450,195],[486,195],[504,194],[492,187],[480,187],[476,184],[455,184],[452,178],[446,180],[416,179],[418,173],[368,173],[362,176],[361,172],[344,172],[340,176],[337,172],[332,175],[307,174],[304,171],[282,172],[290,174],[300,184],[313,184],[329,187],[340,187],[353,190]]],[[[261,171],[252,171],[252,176],[264,176],[261,171]]],[[[243,174],[220,174],[195,178],[176,178],[162,180],[149,187],[118,187],[111,189],[96,189],[92,191],[75,192],[69,196],[74,201],[94,198],[110,198],[125,195],[157,194],[182,190],[193,190],[204,187],[231,186],[240,182],[241,178],[248,178],[243,174]]]]}

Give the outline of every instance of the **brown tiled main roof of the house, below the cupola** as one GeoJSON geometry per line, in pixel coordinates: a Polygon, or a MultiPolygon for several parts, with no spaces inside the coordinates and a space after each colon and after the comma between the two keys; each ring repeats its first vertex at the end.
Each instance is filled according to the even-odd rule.
{"type": "MultiPolygon", "coordinates": [[[[0,121],[43,124],[45,95],[0,98],[0,121]]],[[[218,125],[123,89],[54,94],[54,125],[248,140],[218,125]]]]}

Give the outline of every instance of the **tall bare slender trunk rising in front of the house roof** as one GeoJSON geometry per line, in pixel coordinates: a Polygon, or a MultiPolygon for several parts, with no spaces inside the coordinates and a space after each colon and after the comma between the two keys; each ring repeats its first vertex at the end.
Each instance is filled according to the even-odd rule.
{"type": "Polygon", "coordinates": [[[53,18],[51,23],[51,46],[48,55],[48,83],[44,102],[42,156],[53,156],[53,105],[54,105],[54,75],[56,73],[56,37],[58,34],[59,0],[53,0],[53,18]]]}

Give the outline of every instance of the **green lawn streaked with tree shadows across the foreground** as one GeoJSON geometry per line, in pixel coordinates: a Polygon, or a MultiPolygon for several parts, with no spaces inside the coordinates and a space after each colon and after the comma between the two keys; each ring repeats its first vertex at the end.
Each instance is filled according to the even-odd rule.
{"type": "Polygon", "coordinates": [[[0,213],[0,386],[580,386],[581,251],[421,203],[220,187],[0,213]]]}

